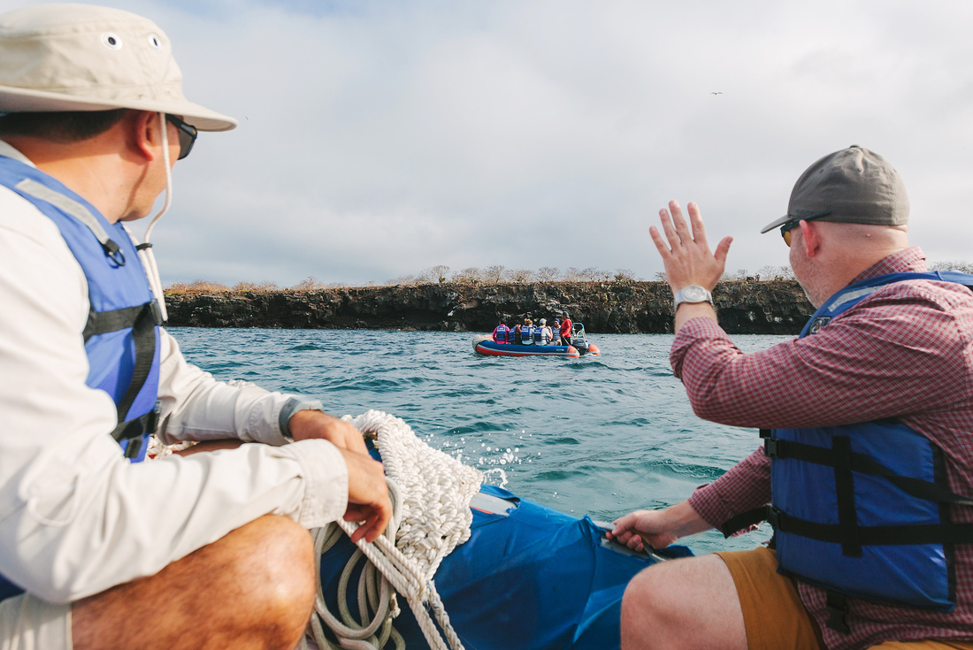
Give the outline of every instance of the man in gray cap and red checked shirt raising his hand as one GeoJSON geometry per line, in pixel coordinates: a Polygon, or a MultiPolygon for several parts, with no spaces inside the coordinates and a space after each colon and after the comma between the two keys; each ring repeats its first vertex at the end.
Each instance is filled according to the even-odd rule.
{"type": "Polygon", "coordinates": [[[764,444],[689,499],[612,535],[667,546],[768,521],[771,548],[638,574],[622,647],[973,648],[973,275],[929,272],[898,172],[851,146],[798,179],[779,229],[817,309],[801,336],[744,354],[719,327],[703,218],[651,229],[675,295],[672,369],[694,412],[764,444]]]}

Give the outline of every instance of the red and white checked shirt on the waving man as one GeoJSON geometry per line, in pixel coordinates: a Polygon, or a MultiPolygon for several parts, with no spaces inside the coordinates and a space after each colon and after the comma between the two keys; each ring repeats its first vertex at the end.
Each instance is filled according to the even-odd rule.
{"type": "MultiPolygon", "coordinates": [[[[917,247],[890,255],[854,281],[925,271],[917,247]]],[[[973,295],[948,282],[909,280],[875,292],[817,334],[743,354],[708,318],[679,330],[669,359],[693,411],[754,428],[852,424],[896,417],[944,451],[950,487],[973,496],[973,295]]],[[[768,503],[770,459],[763,449],[690,497],[709,524],[768,503]]],[[[956,522],[973,509],[952,506],[956,522]]],[[[824,591],[798,592],[832,649],[889,639],[973,640],[973,545],[955,552],[956,607],[949,614],[848,598],[850,634],[826,627],[824,591]]]]}

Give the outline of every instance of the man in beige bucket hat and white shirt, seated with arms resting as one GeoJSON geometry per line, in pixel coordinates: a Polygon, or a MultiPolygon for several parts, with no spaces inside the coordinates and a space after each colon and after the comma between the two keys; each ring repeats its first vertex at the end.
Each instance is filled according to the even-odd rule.
{"type": "Polygon", "coordinates": [[[0,16],[0,650],[290,648],[306,528],[388,521],[353,427],[214,380],[160,326],[147,240],[171,166],[234,126],[183,96],[151,20],[0,16]],[[124,224],[162,191],[139,243],[124,224]],[[153,432],[201,442],[141,462],[153,432]]]}

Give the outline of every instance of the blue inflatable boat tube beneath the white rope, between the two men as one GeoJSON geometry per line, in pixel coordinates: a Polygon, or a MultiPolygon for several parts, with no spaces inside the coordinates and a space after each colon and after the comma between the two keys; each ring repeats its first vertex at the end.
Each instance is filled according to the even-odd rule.
{"type": "MultiPolygon", "coordinates": [[[[682,546],[636,554],[608,541],[587,516],[576,519],[502,488],[484,486],[472,509],[470,539],[435,576],[467,650],[618,648],[622,595],[631,577],[656,561],[693,555],[682,546]]],[[[321,560],[332,611],[342,567],[354,549],[344,538],[321,560]]],[[[348,604],[357,611],[353,600],[348,604]]],[[[395,628],[406,647],[428,648],[405,601],[401,607],[395,628]]]]}

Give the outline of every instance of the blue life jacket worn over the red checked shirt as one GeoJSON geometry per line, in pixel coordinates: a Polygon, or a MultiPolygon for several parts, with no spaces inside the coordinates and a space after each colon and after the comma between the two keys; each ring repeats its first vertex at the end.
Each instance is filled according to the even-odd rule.
{"type": "MultiPolygon", "coordinates": [[[[879,289],[916,279],[973,288],[973,275],[956,271],[870,278],[829,298],[801,337],[879,289]]],[[[771,458],[771,505],[734,517],[723,532],[769,521],[778,570],[826,590],[829,628],[849,632],[846,596],[955,608],[954,545],[973,542],[973,524],[953,523],[950,505],[973,499],[950,490],[932,441],[895,419],[760,435],[771,458]]]]}

